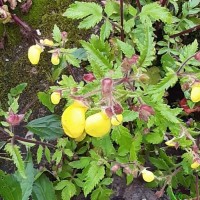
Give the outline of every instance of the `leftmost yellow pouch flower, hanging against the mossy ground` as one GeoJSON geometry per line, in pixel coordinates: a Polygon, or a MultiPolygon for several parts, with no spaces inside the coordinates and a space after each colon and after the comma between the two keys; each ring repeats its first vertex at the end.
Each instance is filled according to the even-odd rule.
{"type": "Polygon", "coordinates": [[[29,47],[28,59],[30,60],[31,64],[37,65],[39,63],[41,52],[42,52],[42,47],[37,44],[29,47]]]}

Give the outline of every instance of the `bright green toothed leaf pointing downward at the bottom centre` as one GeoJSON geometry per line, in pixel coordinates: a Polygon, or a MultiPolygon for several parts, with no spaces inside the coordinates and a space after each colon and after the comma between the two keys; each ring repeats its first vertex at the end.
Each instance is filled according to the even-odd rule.
{"type": "Polygon", "coordinates": [[[85,178],[83,192],[85,197],[95,188],[95,186],[104,178],[105,168],[99,166],[97,162],[93,161],[85,178]]]}

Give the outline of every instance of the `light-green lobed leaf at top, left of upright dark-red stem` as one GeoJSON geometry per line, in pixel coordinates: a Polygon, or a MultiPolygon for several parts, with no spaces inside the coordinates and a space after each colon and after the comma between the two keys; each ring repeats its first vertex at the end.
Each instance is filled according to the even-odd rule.
{"type": "Polygon", "coordinates": [[[63,16],[71,19],[82,19],[78,28],[89,29],[102,19],[102,8],[96,3],[78,2],[71,4],[63,16]]]}

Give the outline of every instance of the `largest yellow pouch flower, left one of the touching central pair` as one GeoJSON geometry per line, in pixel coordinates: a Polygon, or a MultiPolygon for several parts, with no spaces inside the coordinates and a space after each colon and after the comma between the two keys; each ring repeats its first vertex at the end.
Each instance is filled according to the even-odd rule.
{"type": "Polygon", "coordinates": [[[87,107],[77,101],[65,109],[61,116],[61,124],[66,135],[78,138],[83,134],[86,111],[87,107]]]}

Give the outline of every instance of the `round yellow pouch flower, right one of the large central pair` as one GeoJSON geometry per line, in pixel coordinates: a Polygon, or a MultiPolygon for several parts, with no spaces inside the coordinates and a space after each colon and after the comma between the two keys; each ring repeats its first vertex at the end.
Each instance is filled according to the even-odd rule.
{"type": "Polygon", "coordinates": [[[99,112],[86,119],[85,131],[93,137],[102,137],[111,129],[110,118],[104,112],[99,112]]]}

